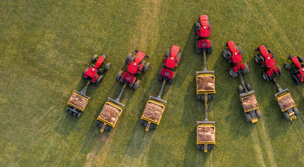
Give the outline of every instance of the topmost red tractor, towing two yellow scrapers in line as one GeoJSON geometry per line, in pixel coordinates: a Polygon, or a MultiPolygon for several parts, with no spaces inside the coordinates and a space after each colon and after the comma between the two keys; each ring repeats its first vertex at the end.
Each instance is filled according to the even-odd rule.
{"type": "Polygon", "coordinates": [[[196,41],[196,53],[201,53],[202,51],[212,53],[212,40],[206,39],[211,34],[211,21],[208,21],[207,15],[199,16],[198,20],[199,21],[195,21],[196,39],[199,37],[203,39],[196,41]]]}

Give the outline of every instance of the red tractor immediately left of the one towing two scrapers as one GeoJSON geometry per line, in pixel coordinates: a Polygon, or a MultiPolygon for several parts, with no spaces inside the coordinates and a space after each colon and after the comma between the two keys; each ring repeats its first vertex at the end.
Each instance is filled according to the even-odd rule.
{"type": "Polygon", "coordinates": [[[158,75],[158,80],[169,80],[169,84],[172,84],[176,73],[172,71],[172,68],[178,66],[178,64],[180,63],[181,56],[182,53],[180,53],[180,47],[173,45],[171,49],[167,49],[163,63],[163,65],[165,65],[166,67],[161,67],[161,71],[158,75]]]}

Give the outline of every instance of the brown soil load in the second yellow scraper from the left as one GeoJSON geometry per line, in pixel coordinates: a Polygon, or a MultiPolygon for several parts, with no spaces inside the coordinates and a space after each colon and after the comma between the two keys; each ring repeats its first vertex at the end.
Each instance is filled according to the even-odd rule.
{"type": "Polygon", "coordinates": [[[119,113],[120,113],[120,109],[107,103],[105,106],[103,106],[99,118],[102,118],[110,122],[111,124],[114,124],[117,118],[119,117],[119,113]]]}

